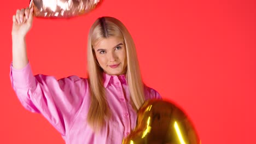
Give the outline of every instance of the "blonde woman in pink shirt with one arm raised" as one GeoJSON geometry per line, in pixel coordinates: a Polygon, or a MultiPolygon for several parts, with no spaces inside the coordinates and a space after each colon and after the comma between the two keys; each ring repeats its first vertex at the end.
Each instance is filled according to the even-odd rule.
{"type": "Polygon", "coordinates": [[[161,99],[144,85],[132,37],[119,20],[100,17],[88,37],[88,79],[33,75],[25,37],[33,9],[13,16],[10,80],[21,104],[41,113],[66,143],[121,143],[136,126],[136,111],[147,99],[161,99]]]}

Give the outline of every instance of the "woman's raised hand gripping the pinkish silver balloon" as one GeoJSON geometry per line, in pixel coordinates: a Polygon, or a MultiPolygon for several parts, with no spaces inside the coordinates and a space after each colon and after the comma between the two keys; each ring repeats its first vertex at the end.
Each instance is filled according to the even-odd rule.
{"type": "Polygon", "coordinates": [[[33,7],[26,9],[18,9],[13,15],[13,29],[11,35],[15,37],[25,37],[30,31],[33,21],[33,7]]]}

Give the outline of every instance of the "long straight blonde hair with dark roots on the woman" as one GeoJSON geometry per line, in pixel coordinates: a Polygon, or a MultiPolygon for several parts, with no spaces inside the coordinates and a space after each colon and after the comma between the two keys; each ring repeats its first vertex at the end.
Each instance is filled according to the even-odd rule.
{"type": "Polygon", "coordinates": [[[144,84],[139,69],[135,44],[126,27],[114,17],[100,17],[91,26],[88,35],[88,79],[90,86],[90,108],[88,123],[95,131],[100,131],[110,117],[110,110],[103,86],[103,70],[98,65],[93,50],[96,43],[103,38],[118,37],[124,39],[126,46],[127,71],[126,79],[129,86],[132,104],[138,110],[144,103],[144,84]]]}

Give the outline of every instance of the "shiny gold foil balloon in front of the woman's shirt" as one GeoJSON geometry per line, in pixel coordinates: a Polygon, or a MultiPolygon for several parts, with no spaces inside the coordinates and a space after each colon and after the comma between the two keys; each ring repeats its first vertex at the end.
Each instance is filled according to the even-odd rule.
{"type": "Polygon", "coordinates": [[[196,130],[185,113],[164,100],[148,100],[138,111],[135,130],[123,144],[200,144],[196,130]]]}

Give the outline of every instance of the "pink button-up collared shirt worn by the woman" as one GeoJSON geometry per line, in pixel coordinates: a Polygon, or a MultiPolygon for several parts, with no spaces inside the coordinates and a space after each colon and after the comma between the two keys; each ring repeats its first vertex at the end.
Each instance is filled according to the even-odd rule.
{"type": "MultiPolygon", "coordinates": [[[[130,92],[124,75],[104,74],[107,102],[112,118],[96,135],[88,123],[90,95],[88,80],[69,76],[33,75],[30,63],[21,70],[10,65],[11,85],[21,104],[31,112],[41,113],[59,131],[67,144],[122,143],[136,127],[136,111],[130,104],[130,92]]],[[[147,99],[161,99],[152,88],[145,87],[147,99]]]]}

